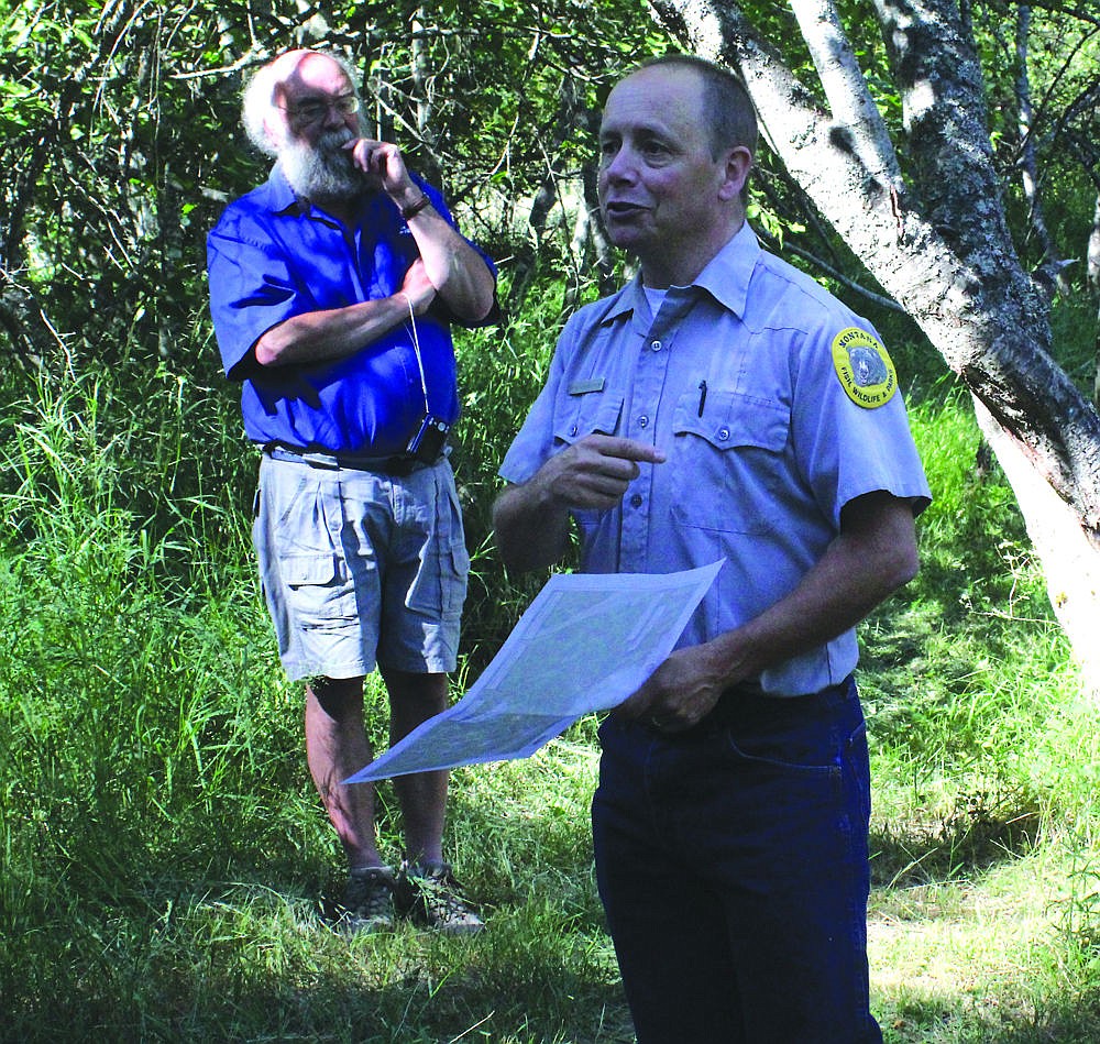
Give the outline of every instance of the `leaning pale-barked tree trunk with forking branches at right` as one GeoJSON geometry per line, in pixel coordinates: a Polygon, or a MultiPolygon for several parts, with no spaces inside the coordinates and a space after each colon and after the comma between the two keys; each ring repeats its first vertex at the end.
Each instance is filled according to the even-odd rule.
{"type": "Polygon", "coordinates": [[[1086,682],[1100,688],[1100,414],[1050,354],[1018,257],[982,70],[958,0],[871,0],[903,106],[904,165],[832,0],[790,0],[827,108],[748,3],[650,0],[685,48],[737,69],[770,147],[970,392],[1086,682]]]}

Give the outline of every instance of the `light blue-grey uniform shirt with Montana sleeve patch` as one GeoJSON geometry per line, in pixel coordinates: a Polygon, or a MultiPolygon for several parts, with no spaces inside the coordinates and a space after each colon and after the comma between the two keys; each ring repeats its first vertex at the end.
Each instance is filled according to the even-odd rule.
{"type": "MultiPolygon", "coordinates": [[[[746,226],[656,317],[635,279],[570,319],[501,474],[526,482],[593,432],[663,450],[620,506],[575,513],[582,568],[664,573],[725,558],[680,645],[708,641],[799,584],[848,501],[884,490],[921,510],[931,499],[900,395],[867,408],[844,389],[833,342],[853,327],[873,336],[746,226]]],[[[850,630],[761,684],[817,692],[856,660],[850,630]]]]}

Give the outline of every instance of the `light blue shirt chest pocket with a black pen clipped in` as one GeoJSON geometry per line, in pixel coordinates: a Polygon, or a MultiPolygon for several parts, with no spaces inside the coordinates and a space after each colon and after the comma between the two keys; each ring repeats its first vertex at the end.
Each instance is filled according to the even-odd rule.
{"type": "Polygon", "coordinates": [[[682,526],[766,532],[781,524],[790,415],[774,403],[712,389],[700,416],[697,393],[672,419],[672,517],[682,526]]]}

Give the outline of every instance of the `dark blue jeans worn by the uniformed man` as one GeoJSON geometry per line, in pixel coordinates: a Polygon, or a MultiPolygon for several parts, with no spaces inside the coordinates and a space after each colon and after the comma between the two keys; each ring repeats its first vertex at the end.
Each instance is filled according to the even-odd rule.
{"type": "Polygon", "coordinates": [[[850,681],[609,716],[592,824],[639,1044],[870,1044],[864,714],[850,681]]]}

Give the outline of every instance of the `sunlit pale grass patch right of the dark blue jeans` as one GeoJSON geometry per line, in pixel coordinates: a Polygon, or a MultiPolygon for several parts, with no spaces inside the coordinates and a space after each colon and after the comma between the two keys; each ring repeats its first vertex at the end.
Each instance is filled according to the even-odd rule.
{"type": "Polygon", "coordinates": [[[1094,956],[1064,922],[1077,858],[1048,838],[954,882],[876,890],[869,953],[887,1040],[1094,1041],[1094,956]]]}

